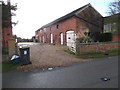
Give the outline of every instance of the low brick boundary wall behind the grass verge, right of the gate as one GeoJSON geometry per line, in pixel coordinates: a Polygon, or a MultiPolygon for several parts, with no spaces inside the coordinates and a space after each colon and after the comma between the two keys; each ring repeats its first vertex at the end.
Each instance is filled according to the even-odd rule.
{"type": "Polygon", "coordinates": [[[110,49],[120,47],[118,42],[79,44],[76,48],[76,54],[88,54],[105,52],[110,49]]]}

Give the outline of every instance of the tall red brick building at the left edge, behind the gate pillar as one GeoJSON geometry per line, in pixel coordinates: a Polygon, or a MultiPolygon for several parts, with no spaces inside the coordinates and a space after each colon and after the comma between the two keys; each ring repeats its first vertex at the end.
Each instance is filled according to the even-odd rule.
{"type": "Polygon", "coordinates": [[[11,5],[2,2],[2,47],[8,48],[8,39],[12,38],[11,5]]]}

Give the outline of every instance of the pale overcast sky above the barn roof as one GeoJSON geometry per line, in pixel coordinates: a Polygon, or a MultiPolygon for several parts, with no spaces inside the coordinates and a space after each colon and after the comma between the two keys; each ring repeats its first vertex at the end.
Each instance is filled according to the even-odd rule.
{"type": "Polygon", "coordinates": [[[108,5],[113,0],[11,0],[18,3],[13,21],[13,34],[32,38],[41,26],[90,3],[102,16],[107,16],[108,5]]]}

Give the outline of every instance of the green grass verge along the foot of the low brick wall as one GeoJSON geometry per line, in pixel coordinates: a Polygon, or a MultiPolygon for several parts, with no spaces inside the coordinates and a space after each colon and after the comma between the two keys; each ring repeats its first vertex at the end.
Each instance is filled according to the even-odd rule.
{"type": "MultiPolygon", "coordinates": [[[[72,54],[70,50],[64,50],[65,52],[72,54]]],[[[103,58],[103,57],[109,57],[109,56],[118,56],[120,55],[120,50],[114,49],[114,50],[109,50],[106,52],[101,52],[101,53],[93,53],[93,54],[82,54],[82,55],[75,55],[77,58],[81,59],[89,59],[89,58],[103,58]]]]}

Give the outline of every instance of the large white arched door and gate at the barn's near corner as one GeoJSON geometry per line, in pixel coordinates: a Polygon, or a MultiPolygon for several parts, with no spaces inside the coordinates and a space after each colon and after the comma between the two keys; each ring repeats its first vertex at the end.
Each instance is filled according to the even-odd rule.
{"type": "Polygon", "coordinates": [[[76,35],[74,31],[67,31],[66,32],[66,42],[69,49],[73,52],[76,52],[76,35]]]}

